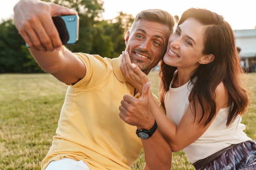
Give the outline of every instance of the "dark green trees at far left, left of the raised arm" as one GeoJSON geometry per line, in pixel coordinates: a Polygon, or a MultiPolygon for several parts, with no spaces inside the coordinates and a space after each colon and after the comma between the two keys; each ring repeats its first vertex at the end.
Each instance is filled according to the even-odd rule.
{"type": "Polygon", "coordinates": [[[0,24],[0,49],[0,73],[42,72],[32,59],[12,19],[0,24]]]}

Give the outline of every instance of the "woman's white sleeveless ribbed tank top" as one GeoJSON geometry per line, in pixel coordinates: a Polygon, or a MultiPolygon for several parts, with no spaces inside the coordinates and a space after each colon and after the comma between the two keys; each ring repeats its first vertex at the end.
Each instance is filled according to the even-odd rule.
{"type": "MultiPolygon", "coordinates": [[[[192,85],[189,82],[177,88],[172,88],[170,85],[170,89],[165,95],[166,116],[176,125],[179,124],[189,106],[191,88],[192,85]]],[[[229,107],[220,109],[207,131],[195,142],[183,149],[189,162],[194,163],[204,159],[231,144],[251,140],[243,132],[245,125],[240,123],[242,120],[240,116],[228,128],[226,127],[228,110],[229,107]]]]}

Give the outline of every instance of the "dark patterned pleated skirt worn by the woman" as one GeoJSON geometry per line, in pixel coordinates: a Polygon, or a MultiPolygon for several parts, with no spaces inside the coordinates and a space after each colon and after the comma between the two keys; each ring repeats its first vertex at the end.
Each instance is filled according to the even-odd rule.
{"type": "Polygon", "coordinates": [[[193,166],[196,170],[256,170],[256,141],[231,145],[193,166]]]}

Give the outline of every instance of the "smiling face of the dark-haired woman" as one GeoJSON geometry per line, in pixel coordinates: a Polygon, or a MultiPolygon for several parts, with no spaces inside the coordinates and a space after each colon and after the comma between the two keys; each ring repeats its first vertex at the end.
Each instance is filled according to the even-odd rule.
{"type": "Polygon", "coordinates": [[[202,53],[205,27],[194,18],[188,18],[177,26],[176,31],[169,38],[164,62],[177,67],[178,70],[195,70],[205,56],[202,53]]]}

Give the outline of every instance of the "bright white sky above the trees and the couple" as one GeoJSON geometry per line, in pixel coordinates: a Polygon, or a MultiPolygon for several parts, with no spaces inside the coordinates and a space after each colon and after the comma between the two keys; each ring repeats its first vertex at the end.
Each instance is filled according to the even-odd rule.
{"type": "MultiPolygon", "coordinates": [[[[5,0],[0,5],[0,22],[13,16],[13,6],[18,0],[5,0]]],[[[164,9],[181,16],[190,7],[206,8],[220,15],[229,22],[234,30],[254,29],[256,26],[255,0],[103,0],[104,19],[118,16],[120,11],[134,17],[144,9],[164,9]],[[167,2],[167,3],[166,3],[167,2]]]]}

